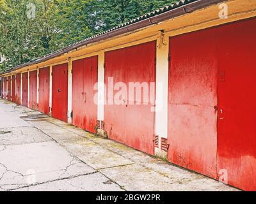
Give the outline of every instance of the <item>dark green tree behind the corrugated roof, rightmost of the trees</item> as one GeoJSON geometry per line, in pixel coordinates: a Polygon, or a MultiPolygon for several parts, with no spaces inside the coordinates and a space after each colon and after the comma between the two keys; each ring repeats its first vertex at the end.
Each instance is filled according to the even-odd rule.
{"type": "Polygon", "coordinates": [[[90,0],[82,1],[83,22],[92,33],[100,33],[177,0],[90,0]]]}

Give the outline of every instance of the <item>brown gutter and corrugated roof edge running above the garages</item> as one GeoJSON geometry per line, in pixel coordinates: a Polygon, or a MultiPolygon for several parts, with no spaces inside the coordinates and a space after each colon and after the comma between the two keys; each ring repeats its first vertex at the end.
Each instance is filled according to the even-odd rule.
{"type": "Polygon", "coordinates": [[[147,27],[150,25],[155,25],[155,24],[158,24],[159,22],[163,22],[164,20],[169,20],[175,17],[179,17],[186,13],[191,13],[193,11],[200,10],[202,8],[206,8],[213,4],[218,4],[224,1],[227,1],[227,0],[212,0],[212,1],[182,0],[177,3],[171,4],[170,6],[166,6],[160,10],[152,11],[151,13],[145,14],[123,25],[114,27],[113,29],[110,29],[109,31],[106,31],[102,34],[97,34],[90,38],[86,38],[83,41],[79,41],[78,43],[69,45],[68,47],[65,47],[61,50],[52,52],[51,54],[47,54],[44,57],[40,57],[36,59],[35,61],[30,61],[24,64],[20,64],[18,66],[15,66],[11,69],[8,69],[7,71],[4,71],[3,73],[0,73],[0,75],[10,73],[12,71],[15,71],[20,68],[24,68],[26,66],[31,66],[33,64],[39,64],[41,62],[48,61],[49,59],[53,59],[55,57],[60,57],[61,55],[67,54],[68,52],[72,50],[76,50],[79,47],[90,45],[92,43],[97,43],[102,40],[108,40],[109,38],[113,38],[121,34],[129,33],[131,31],[136,31],[138,29],[141,29],[143,27],[147,27]]]}

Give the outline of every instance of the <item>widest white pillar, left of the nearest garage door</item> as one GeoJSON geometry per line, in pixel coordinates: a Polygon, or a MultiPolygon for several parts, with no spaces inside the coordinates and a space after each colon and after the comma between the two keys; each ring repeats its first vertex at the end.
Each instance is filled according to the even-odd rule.
{"type": "Polygon", "coordinates": [[[160,156],[166,156],[166,152],[161,151],[161,138],[167,138],[168,135],[168,55],[168,36],[159,33],[157,38],[155,126],[155,135],[159,136],[159,148],[156,148],[155,152],[160,156]]]}

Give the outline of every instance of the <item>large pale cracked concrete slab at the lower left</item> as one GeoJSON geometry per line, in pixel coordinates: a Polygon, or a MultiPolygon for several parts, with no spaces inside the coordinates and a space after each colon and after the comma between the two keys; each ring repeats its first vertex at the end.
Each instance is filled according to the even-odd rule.
{"type": "Polygon", "coordinates": [[[0,186],[10,190],[95,170],[56,142],[8,146],[0,153],[0,186]]]}

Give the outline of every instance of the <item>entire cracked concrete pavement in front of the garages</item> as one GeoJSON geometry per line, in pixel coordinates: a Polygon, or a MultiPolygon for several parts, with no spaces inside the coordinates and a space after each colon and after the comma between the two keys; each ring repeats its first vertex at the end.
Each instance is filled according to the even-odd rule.
{"type": "Polygon", "coordinates": [[[237,191],[0,99],[0,191],[237,191]]]}

